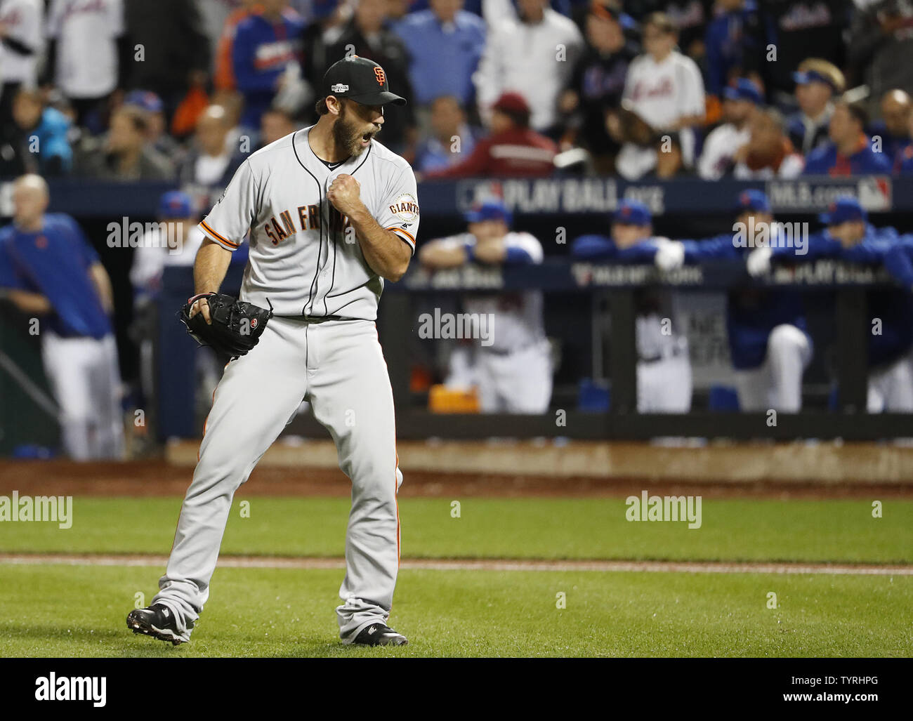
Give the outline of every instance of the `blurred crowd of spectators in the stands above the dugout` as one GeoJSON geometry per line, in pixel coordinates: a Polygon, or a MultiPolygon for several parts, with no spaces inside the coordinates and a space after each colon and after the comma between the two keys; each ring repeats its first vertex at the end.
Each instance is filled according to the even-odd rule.
{"type": "Polygon", "coordinates": [[[198,210],[347,55],[420,179],[913,173],[907,0],[0,0],[0,41],[0,175],[198,210]]]}

